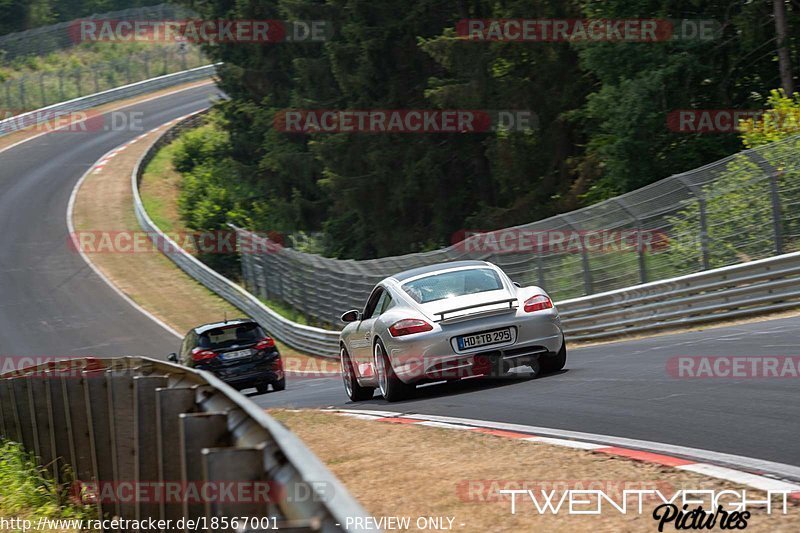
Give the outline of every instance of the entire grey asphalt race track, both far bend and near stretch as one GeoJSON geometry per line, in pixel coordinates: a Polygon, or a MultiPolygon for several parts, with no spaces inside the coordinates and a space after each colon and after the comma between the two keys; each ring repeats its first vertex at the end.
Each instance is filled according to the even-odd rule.
{"type": "MultiPolygon", "coordinates": [[[[208,105],[210,88],[132,108],[150,129],[208,105]]],[[[0,153],[0,353],[149,355],[177,340],[129,306],[67,247],[70,192],[89,166],[139,131],[55,133],[0,153]]],[[[359,407],[602,433],[800,465],[797,379],[677,379],[674,356],[792,355],[790,318],[573,350],[536,380],[468,381],[389,404],[346,400],[336,378],[290,379],[261,406],[359,407]]]]}

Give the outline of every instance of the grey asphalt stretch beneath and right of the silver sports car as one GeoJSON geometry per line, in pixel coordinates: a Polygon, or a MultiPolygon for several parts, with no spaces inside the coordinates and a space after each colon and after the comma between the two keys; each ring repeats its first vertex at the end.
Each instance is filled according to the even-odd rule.
{"type": "Polygon", "coordinates": [[[294,378],[264,407],[350,407],[510,422],[649,440],[800,465],[800,380],[677,378],[676,356],[798,354],[800,318],[572,350],[535,380],[463,381],[388,403],[349,402],[339,378],[294,378]]]}

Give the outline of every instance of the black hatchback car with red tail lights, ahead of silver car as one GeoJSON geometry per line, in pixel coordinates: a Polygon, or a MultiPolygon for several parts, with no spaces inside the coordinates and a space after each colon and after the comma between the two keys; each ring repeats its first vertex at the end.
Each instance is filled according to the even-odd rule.
{"type": "Polygon", "coordinates": [[[286,376],[275,341],[249,319],[204,324],[183,338],[180,354],[169,360],[208,370],[237,390],[255,387],[259,394],[286,388],[286,376]]]}

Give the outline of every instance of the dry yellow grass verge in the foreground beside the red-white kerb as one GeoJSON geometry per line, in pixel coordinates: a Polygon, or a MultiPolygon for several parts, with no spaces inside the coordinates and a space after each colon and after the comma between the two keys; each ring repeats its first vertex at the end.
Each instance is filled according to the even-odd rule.
{"type": "MultiPolygon", "coordinates": [[[[412,524],[420,516],[451,517],[454,531],[657,531],[651,517],[654,501],[645,502],[641,515],[621,514],[606,506],[601,515],[570,516],[563,510],[540,515],[518,497],[517,513],[512,515],[509,497],[487,498],[494,493],[489,488],[523,488],[520,482],[534,491],[549,490],[557,483],[609,492],[627,483],[631,490],[661,489],[665,495],[681,489],[742,489],[670,467],[475,432],[357,420],[320,411],[271,410],[270,414],[300,437],[373,516],[408,516],[412,524]]],[[[752,496],[764,497],[756,491],[752,496]]],[[[673,530],[671,525],[665,528],[673,530]]],[[[797,504],[787,515],[756,510],[747,526],[747,531],[799,530],[797,504]]]]}

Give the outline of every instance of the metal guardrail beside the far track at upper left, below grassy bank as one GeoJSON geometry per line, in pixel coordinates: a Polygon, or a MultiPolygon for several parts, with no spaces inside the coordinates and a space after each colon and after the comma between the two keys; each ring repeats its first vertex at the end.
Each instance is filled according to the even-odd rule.
{"type": "Polygon", "coordinates": [[[0,137],[42,122],[54,120],[65,113],[83,111],[116,100],[130,98],[131,96],[138,96],[181,83],[208,78],[214,75],[216,67],[216,65],[206,65],[174,74],[166,74],[9,117],[5,120],[0,120],[0,137]]]}

